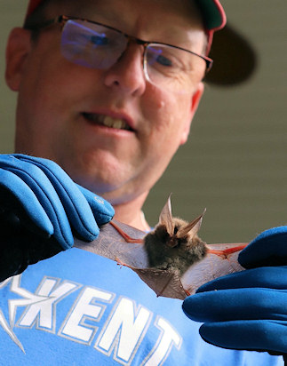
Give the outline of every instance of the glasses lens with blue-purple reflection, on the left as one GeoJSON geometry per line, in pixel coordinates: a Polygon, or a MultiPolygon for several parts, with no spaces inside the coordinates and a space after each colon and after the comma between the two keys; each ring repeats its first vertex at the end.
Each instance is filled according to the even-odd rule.
{"type": "Polygon", "coordinates": [[[61,35],[63,56],[87,68],[110,68],[126,44],[120,32],[86,20],[68,20],[61,35]]]}

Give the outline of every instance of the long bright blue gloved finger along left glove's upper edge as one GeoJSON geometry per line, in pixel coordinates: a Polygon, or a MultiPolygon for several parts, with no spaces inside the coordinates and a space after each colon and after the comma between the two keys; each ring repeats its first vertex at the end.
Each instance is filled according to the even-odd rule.
{"type": "Polygon", "coordinates": [[[35,164],[44,171],[60,196],[68,220],[82,239],[92,242],[100,233],[89,203],[68,174],[57,163],[28,155],[15,155],[22,162],[35,164]]]}

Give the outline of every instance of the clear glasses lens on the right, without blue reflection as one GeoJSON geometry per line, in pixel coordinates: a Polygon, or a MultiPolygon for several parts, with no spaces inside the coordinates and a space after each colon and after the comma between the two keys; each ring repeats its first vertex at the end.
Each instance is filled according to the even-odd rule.
{"type": "Polygon", "coordinates": [[[201,57],[165,44],[148,44],[145,53],[148,80],[176,92],[192,91],[198,73],[206,68],[201,57]]]}

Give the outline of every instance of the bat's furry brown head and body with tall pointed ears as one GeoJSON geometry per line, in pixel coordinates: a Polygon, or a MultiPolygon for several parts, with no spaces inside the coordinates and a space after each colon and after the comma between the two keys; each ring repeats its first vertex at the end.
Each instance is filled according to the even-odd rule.
{"type": "Polygon", "coordinates": [[[197,236],[203,215],[188,223],[171,214],[171,196],[163,207],[155,230],[147,234],[144,244],[150,267],[169,269],[183,275],[187,268],[207,253],[206,244],[197,236]]]}

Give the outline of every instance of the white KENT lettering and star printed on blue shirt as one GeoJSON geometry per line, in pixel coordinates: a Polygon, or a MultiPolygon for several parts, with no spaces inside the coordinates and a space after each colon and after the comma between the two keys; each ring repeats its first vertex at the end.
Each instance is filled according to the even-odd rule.
{"type": "MultiPolygon", "coordinates": [[[[161,316],[157,316],[152,324],[154,314],[131,298],[119,297],[115,303],[115,293],[94,287],[83,288],[76,282],[52,277],[44,277],[33,293],[20,287],[20,278],[19,275],[0,283],[0,290],[4,293],[11,284],[13,293],[12,298],[9,295],[6,298],[9,312],[4,313],[0,306],[0,327],[23,353],[26,346],[31,346],[29,339],[36,334],[31,333],[31,338],[27,339],[18,338],[17,328],[44,330],[52,333],[51,337],[58,334],[73,342],[92,346],[95,357],[98,351],[107,359],[114,358],[123,365],[142,360],[142,366],[163,365],[173,347],[180,349],[182,339],[171,324],[161,316]],[[76,296],[79,289],[81,291],[76,296]],[[20,306],[25,306],[21,314],[20,306]],[[63,318],[64,322],[59,324],[59,319],[63,318]]],[[[2,304],[5,310],[4,302],[2,304]]]]}

